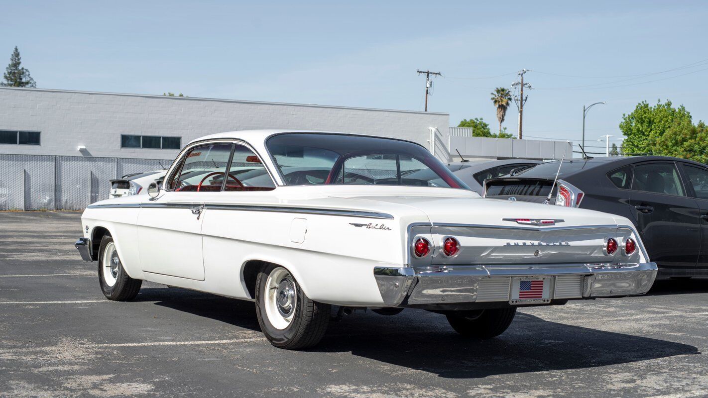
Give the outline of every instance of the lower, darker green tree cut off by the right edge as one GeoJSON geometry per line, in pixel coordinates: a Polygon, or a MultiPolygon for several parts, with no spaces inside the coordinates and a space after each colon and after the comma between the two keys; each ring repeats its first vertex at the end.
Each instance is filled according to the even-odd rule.
{"type": "Polygon", "coordinates": [[[690,119],[677,119],[654,141],[654,154],[708,163],[708,127],[702,121],[694,125],[690,119]]]}

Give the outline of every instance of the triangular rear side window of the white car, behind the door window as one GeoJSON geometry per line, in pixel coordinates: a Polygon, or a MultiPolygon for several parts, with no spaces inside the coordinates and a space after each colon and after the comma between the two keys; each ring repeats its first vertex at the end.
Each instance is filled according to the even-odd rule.
{"type": "Polygon", "coordinates": [[[270,191],[272,189],[275,189],[275,184],[270,179],[261,159],[249,148],[236,145],[224,191],[270,191]]]}

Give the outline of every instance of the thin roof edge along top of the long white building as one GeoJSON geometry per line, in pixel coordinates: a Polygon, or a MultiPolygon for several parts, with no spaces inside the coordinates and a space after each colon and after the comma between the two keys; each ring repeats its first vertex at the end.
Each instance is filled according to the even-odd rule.
{"type": "Polygon", "coordinates": [[[296,107],[321,107],[328,109],[347,109],[347,110],[370,110],[377,112],[398,112],[398,113],[413,113],[420,115],[442,115],[450,116],[449,113],[444,112],[423,112],[419,110],[396,110],[396,109],[382,109],[382,108],[371,108],[371,107],[346,107],[341,105],[319,105],[319,104],[297,104],[297,103],[275,103],[268,101],[249,101],[249,100],[227,100],[224,98],[202,98],[202,97],[170,97],[168,95],[155,95],[155,94],[132,94],[132,93],[105,93],[101,91],[82,91],[82,90],[59,90],[55,88],[26,88],[26,87],[3,87],[0,89],[4,90],[26,90],[26,91],[43,91],[47,93],[74,93],[74,94],[90,94],[90,95],[120,95],[124,97],[142,97],[142,98],[161,98],[170,100],[193,100],[193,101],[213,101],[219,103],[241,103],[241,104],[253,104],[253,105],[282,105],[282,106],[296,106],[296,107]]]}

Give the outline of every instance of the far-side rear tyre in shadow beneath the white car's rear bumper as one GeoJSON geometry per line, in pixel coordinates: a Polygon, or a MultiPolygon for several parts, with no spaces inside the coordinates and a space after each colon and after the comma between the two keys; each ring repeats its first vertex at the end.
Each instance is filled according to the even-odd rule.
{"type": "Polygon", "coordinates": [[[447,322],[462,336],[491,339],[506,331],[515,315],[516,308],[455,311],[447,314],[447,322]]]}

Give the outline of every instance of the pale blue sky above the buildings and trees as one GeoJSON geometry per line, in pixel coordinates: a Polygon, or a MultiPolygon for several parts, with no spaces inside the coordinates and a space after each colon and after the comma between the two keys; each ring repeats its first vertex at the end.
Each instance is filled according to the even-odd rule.
{"type": "MultiPolygon", "coordinates": [[[[617,139],[641,100],[708,119],[708,61],[636,76],[708,59],[703,1],[13,1],[3,13],[0,64],[18,45],[40,88],[422,110],[416,69],[430,69],[443,77],[429,110],[493,129],[489,93],[526,68],[527,138],[577,142],[583,104],[603,100],[588,146],[617,139]]],[[[511,107],[508,131],[516,119],[511,107]]]]}

